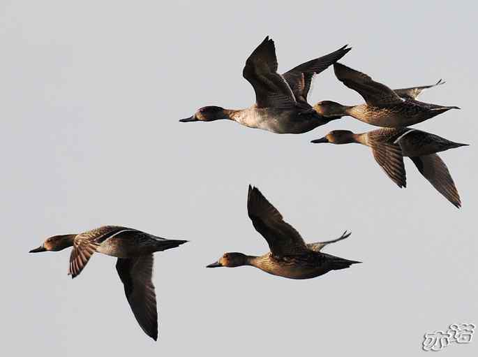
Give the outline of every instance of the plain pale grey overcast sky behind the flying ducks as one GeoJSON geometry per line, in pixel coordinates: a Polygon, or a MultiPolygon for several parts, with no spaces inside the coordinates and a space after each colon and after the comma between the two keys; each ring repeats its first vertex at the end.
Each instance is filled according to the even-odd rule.
{"type": "MultiPolygon", "coordinates": [[[[1,350],[8,356],[416,356],[424,333],[478,324],[475,4],[439,1],[1,1],[1,350]],[[245,108],[248,55],[271,36],[279,70],[342,45],[343,63],[390,87],[447,84],[421,100],[458,105],[417,125],[470,147],[440,154],[463,208],[406,160],[398,189],[359,145],[234,122],[179,123],[202,105],[245,108]],[[261,189],[308,242],[363,261],[295,281],[206,269],[223,252],[264,254],[246,213],[261,189]],[[50,235],[104,224],[191,240],[156,254],[160,337],[144,335],[114,269],[96,254],[66,275],[50,235]]],[[[362,102],[317,76],[309,101],[362,102]]],[[[477,332],[478,333],[478,332],[477,332]]],[[[475,334],[477,334],[475,333],[475,334]]],[[[477,356],[451,344],[440,356],[477,356]]]]}

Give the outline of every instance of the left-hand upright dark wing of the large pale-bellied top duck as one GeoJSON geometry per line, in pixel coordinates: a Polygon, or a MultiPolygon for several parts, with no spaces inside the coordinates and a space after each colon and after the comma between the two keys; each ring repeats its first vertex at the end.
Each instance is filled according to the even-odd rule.
{"type": "Polygon", "coordinates": [[[267,36],[246,60],[242,71],[254,88],[257,108],[292,109],[296,105],[294,93],[277,73],[277,66],[274,41],[267,36]]]}

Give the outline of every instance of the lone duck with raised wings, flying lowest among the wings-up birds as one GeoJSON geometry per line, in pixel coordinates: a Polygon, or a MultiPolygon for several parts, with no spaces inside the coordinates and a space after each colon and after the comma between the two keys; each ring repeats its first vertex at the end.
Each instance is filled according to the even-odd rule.
{"type": "Polygon", "coordinates": [[[306,244],[299,232],[283,221],[281,213],[262,196],[257,187],[249,186],[247,207],[255,230],[267,241],[270,252],[262,256],[225,253],[207,268],[250,265],[288,279],[311,279],[331,270],[341,270],[360,263],[320,252],[326,245],[348,238],[350,233],[345,232],[335,240],[306,244]]]}

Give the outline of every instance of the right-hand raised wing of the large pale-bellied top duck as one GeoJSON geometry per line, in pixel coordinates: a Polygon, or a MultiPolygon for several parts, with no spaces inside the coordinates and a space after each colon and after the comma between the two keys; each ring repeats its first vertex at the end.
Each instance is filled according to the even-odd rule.
{"type": "Polygon", "coordinates": [[[290,71],[283,73],[283,78],[287,81],[297,101],[307,101],[307,94],[311,89],[313,76],[327,69],[331,64],[341,59],[352,48],[347,45],[338,50],[325,54],[322,57],[311,59],[303,64],[299,64],[290,71]]]}

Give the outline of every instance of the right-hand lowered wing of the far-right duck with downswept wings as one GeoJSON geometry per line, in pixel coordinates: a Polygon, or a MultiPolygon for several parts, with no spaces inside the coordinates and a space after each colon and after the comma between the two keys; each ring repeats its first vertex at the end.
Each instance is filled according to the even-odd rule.
{"type": "Polygon", "coordinates": [[[461,207],[460,195],[451,178],[447,165],[440,159],[438,154],[410,156],[421,175],[430,182],[455,207],[461,207]]]}

